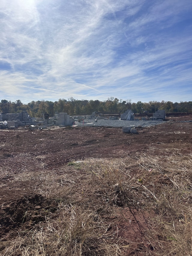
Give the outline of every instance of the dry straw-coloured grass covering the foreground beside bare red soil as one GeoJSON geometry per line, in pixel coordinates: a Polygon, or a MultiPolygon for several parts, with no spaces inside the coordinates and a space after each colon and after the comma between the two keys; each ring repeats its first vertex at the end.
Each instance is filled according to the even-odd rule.
{"type": "Polygon", "coordinates": [[[191,166],[192,155],[173,149],[167,156],[90,158],[47,174],[36,191],[55,209],[39,210],[44,221],[1,241],[1,255],[191,255],[191,166]],[[140,240],[119,236],[113,217],[129,223],[125,208],[140,240]]]}

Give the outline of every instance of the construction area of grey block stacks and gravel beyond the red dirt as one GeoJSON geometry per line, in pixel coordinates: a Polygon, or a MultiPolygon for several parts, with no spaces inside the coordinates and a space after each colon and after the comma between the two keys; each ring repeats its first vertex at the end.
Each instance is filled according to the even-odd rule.
{"type": "Polygon", "coordinates": [[[158,124],[158,122],[150,121],[165,121],[165,110],[158,110],[153,113],[153,116],[144,116],[135,118],[134,113],[131,110],[125,111],[118,116],[104,116],[102,114],[96,115],[93,112],[91,115],[85,116],[70,116],[67,113],[58,113],[53,117],[47,116],[47,113],[42,113],[40,118],[30,117],[27,111],[22,111],[19,114],[16,113],[0,113],[0,129],[17,129],[17,128],[29,128],[30,130],[45,129],[66,126],[107,126],[107,127],[124,127],[124,132],[137,133],[135,127],[138,126],[152,126],[158,124]],[[118,121],[117,121],[118,120],[118,121]],[[127,122],[128,121],[128,122],[127,122]],[[130,122],[129,122],[130,121],[130,122]],[[140,122],[146,121],[146,123],[140,122]],[[134,122],[134,123],[133,123],[134,122]],[[132,127],[131,127],[132,126],[132,127]],[[126,128],[128,127],[128,128],[126,128]],[[131,127],[131,128],[129,128],[131,127]]]}

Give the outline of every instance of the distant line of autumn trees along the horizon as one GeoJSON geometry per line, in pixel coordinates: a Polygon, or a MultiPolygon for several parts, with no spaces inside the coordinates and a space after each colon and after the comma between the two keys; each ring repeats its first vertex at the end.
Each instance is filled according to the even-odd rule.
{"type": "Polygon", "coordinates": [[[20,100],[15,102],[1,100],[0,112],[19,113],[27,111],[32,117],[40,117],[42,113],[49,113],[49,116],[54,116],[55,113],[65,112],[70,116],[97,113],[123,113],[131,109],[134,113],[154,113],[157,110],[164,109],[166,113],[172,112],[192,112],[192,101],[149,101],[132,103],[131,100],[123,101],[114,97],[108,98],[106,101],[99,100],[76,100],[73,97],[68,100],[59,99],[58,101],[31,101],[28,104],[23,104],[20,100]]]}

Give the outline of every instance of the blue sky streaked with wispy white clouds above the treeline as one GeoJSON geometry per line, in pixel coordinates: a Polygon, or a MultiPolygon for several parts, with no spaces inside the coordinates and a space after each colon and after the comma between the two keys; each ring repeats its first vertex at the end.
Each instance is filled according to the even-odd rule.
{"type": "Polygon", "coordinates": [[[1,0],[0,100],[192,101],[191,0],[1,0]]]}

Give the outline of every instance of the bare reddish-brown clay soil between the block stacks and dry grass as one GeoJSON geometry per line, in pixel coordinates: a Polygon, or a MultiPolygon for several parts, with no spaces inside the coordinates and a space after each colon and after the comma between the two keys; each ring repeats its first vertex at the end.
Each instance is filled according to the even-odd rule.
{"type": "MultiPolygon", "coordinates": [[[[16,176],[38,173],[40,169],[57,173],[59,167],[86,158],[125,158],[141,152],[157,155],[160,149],[180,149],[181,145],[182,152],[189,154],[192,152],[192,122],[176,121],[192,120],[192,115],[172,116],[169,119],[173,121],[137,128],[138,134],[126,134],[122,128],[106,127],[0,130],[1,239],[9,239],[8,235],[13,230],[19,230],[26,221],[26,209],[34,212],[47,206],[45,198],[33,192],[38,182],[41,182],[39,179],[17,181],[16,176]]],[[[51,203],[49,210],[54,208],[54,203],[51,203]]],[[[123,218],[121,221],[115,220],[121,230],[119,236],[122,237],[126,237],[123,230],[129,228],[131,223],[136,223],[130,209],[125,207],[124,212],[130,223],[123,223],[123,218]]],[[[32,218],[33,221],[44,221],[42,215],[32,218]]],[[[144,217],[140,215],[140,218],[140,223],[145,225],[144,217]]],[[[136,236],[133,235],[133,238],[136,236]]]]}

